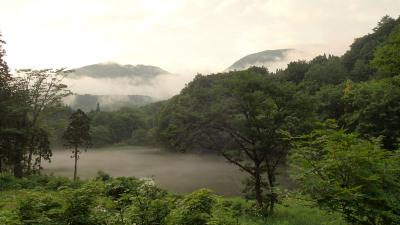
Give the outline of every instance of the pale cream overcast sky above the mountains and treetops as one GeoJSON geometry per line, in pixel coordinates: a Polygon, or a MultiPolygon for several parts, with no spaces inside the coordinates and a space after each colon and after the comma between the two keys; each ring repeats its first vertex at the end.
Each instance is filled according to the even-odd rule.
{"type": "Polygon", "coordinates": [[[113,61],[217,72],[249,53],[343,54],[400,0],[0,0],[12,68],[113,61]]]}

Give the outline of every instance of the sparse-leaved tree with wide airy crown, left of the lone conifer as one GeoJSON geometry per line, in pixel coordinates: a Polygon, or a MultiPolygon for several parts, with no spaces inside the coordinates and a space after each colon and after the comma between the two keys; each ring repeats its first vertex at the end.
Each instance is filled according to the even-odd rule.
{"type": "MultiPolygon", "coordinates": [[[[23,149],[18,150],[20,152],[18,154],[22,154],[22,158],[26,158],[27,174],[34,172],[33,157],[34,153],[38,152],[34,143],[35,131],[48,132],[41,127],[44,119],[43,112],[60,105],[62,99],[71,94],[67,86],[62,83],[67,74],[64,69],[24,69],[18,70],[13,79],[16,101],[16,106],[13,107],[18,108],[20,117],[26,118],[25,126],[22,128],[26,140],[23,149]]],[[[41,156],[38,157],[41,158],[41,156]]]]}

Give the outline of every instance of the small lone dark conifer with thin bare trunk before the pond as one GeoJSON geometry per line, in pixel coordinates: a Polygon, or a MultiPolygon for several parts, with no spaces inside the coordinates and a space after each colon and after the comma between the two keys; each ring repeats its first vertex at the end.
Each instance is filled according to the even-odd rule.
{"type": "Polygon", "coordinates": [[[90,138],[90,119],[86,114],[78,109],[70,117],[70,123],[65,131],[64,138],[65,146],[72,148],[72,156],[74,158],[74,180],[77,178],[77,163],[79,154],[82,152],[79,148],[82,147],[85,151],[91,146],[90,138]]]}

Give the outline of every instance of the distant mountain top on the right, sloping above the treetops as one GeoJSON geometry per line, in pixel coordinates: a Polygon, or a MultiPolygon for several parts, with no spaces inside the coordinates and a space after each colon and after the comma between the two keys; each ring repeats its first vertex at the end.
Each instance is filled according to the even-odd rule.
{"type": "Polygon", "coordinates": [[[283,62],[287,59],[288,53],[295,51],[294,49],[275,49],[265,50],[262,52],[246,55],[245,57],[234,62],[226,70],[244,70],[250,66],[270,67],[275,63],[283,62]]]}

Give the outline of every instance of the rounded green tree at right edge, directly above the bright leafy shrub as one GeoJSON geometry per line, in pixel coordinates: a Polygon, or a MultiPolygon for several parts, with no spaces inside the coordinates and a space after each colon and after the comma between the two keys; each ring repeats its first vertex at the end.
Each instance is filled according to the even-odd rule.
{"type": "Polygon", "coordinates": [[[394,150],[400,138],[400,76],[348,83],[343,100],[344,123],[365,138],[382,137],[383,147],[394,150]]]}

